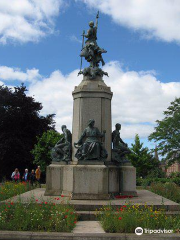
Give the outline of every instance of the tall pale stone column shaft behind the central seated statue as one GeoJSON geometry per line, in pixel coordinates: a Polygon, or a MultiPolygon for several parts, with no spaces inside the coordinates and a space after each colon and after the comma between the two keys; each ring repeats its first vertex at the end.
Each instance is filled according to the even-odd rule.
{"type": "MultiPolygon", "coordinates": [[[[102,132],[106,130],[104,147],[108,152],[107,161],[111,161],[111,99],[110,87],[101,77],[90,80],[84,76],[79,86],[75,87],[73,94],[73,129],[72,142],[77,142],[83,130],[87,127],[89,119],[95,120],[95,126],[102,132]]],[[[73,146],[72,160],[76,149],[73,146]]]]}

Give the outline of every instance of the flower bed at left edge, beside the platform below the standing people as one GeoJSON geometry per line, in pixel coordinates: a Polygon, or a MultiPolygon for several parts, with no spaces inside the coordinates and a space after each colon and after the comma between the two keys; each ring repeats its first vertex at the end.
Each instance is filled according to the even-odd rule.
{"type": "Polygon", "coordinates": [[[5,182],[2,186],[0,186],[0,201],[22,194],[29,190],[32,190],[32,187],[29,183],[5,182]]]}

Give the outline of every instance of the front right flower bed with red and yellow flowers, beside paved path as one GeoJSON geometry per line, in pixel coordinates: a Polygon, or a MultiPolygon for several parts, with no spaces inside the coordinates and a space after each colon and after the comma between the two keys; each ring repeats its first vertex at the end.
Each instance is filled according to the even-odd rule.
{"type": "Polygon", "coordinates": [[[104,230],[110,233],[134,233],[137,227],[180,230],[180,216],[166,216],[164,210],[153,211],[149,206],[124,205],[117,209],[109,206],[98,211],[97,215],[104,230]]]}

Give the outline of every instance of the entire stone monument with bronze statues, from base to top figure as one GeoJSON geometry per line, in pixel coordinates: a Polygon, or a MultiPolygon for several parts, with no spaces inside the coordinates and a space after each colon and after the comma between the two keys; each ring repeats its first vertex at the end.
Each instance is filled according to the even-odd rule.
{"type": "Polygon", "coordinates": [[[52,164],[47,167],[45,195],[70,196],[72,199],[110,199],[114,195],[136,196],[136,169],[128,161],[127,144],[120,137],[121,125],[112,132],[111,99],[113,93],[103,81],[108,74],[97,44],[99,12],[96,23],[83,31],[81,67],[82,82],[72,95],[71,132],[62,126],[64,137],[52,149],[52,164]],[[84,45],[84,38],[87,38],[84,45]],[[89,67],[82,70],[82,58],[89,67]]]}

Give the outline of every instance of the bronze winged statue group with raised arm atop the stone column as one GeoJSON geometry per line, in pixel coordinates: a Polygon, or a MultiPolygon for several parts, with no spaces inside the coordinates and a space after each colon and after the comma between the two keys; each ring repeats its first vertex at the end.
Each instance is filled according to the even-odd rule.
{"type": "Polygon", "coordinates": [[[79,74],[89,75],[90,79],[94,79],[97,75],[103,76],[108,74],[102,69],[99,68],[99,63],[102,63],[102,66],[105,65],[105,62],[102,58],[102,53],[106,53],[107,51],[103,48],[100,48],[96,42],[97,40],[97,28],[98,28],[98,18],[99,12],[96,16],[96,24],[94,26],[94,22],[89,22],[90,29],[87,31],[87,34],[83,31],[83,43],[82,43],[82,50],[81,50],[81,67],[79,74]],[[84,37],[87,38],[84,46],[84,37]],[[82,68],[82,57],[86,59],[87,62],[90,63],[88,68],[85,68],[83,71],[82,68]]]}

